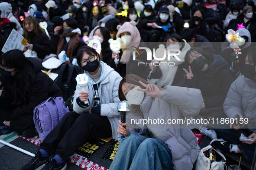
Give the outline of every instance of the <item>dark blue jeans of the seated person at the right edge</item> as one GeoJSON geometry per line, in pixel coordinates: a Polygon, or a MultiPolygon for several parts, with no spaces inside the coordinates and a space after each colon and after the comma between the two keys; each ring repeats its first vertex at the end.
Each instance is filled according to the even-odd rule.
{"type": "Polygon", "coordinates": [[[222,139],[226,140],[228,143],[237,145],[246,161],[253,161],[256,143],[246,144],[239,141],[241,133],[243,133],[243,135],[245,135],[246,137],[251,135],[248,129],[230,129],[230,124],[221,124],[219,122],[215,124],[214,130],[217,135],[219,135],[222,139]]]}

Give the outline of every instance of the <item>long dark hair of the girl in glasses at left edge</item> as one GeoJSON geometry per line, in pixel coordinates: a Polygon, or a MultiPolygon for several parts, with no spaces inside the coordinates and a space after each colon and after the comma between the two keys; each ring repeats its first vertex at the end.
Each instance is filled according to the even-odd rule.
{"type": "Polygon", "coordinates": [[[10,50],[0,55],[0,64],[8,68],[15,68],[16,74],[11,79],[2,78],[2,84],[7,91],[10,91],[13,104],[20,106],[29,102],[29,96],[36,92],[33,87],[35,71],[29,64],[23,52],[10,50]]]}

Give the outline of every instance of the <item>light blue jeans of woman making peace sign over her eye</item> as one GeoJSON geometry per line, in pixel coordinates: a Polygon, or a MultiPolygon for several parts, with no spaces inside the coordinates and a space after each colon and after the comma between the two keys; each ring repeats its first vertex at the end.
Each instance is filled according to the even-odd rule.
{"type": "Polygon", "coordinates": [[[172,153],[157,139],[132,134],[120,143],[109,170],[173,170],[172,153]]]}

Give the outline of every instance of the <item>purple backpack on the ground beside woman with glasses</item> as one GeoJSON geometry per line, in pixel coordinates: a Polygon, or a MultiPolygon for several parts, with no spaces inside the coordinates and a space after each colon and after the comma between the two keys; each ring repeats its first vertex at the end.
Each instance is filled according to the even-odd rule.
{"type": "Polygon", "coordinates": [[[35,107],[33,119],[41,142],[68,112],[62,97],[51,97],[35,107]]]}

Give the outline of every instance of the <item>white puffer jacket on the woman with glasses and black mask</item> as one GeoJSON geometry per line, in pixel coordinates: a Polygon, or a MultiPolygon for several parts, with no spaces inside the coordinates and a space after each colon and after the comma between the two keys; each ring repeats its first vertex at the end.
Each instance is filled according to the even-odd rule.
{"type": "Polygon", "coordinates": [[[101,116],[107,116],[108,120],[111,124],[112,129],[112,135],[113,139],[117,140],[118,132],[118,120],[121,119],[120,113],[117,112],[117,104],[120,101],[118,98],[118,87],[119,83],[122,80],[122,77],[114,71],[110,66],[108,66],[106,63],[100,61],[101,66],[101,75],[98,82],[94,82],[93,79],[91,79],[90,74],[88,72],[85,72],[85,74],[88,76],[88,85],[87,85],[87,91],[89,92],[89,107],[82,108],[79,107],[76,103],[76,99],[78,98],[79,92],[81,92],[81,87],[79,85],[76,86],[75,96],[74,96],[74,104],[73,109],[76,113],[83,113],[87,112],[91,107],[93,107],[94,101],[94,88],[93,85],[100,83],[99,86],[99,96],[100,96],[100,115],[101,116]]]}

